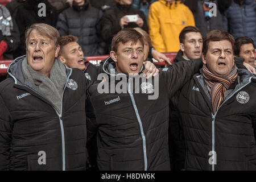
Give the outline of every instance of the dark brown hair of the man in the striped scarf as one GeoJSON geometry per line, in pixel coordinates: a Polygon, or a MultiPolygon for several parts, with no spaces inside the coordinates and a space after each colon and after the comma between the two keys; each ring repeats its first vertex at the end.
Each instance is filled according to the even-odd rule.
{"type": "Polygon", "coordinates": [[[232,45],[232,50],[234,52],[234,38],[231,34],[222,30],[212,30],[204,38],[203,43],[203,55],[205,56],[208,51],[208,46],[210,42],[216,42],[221,40],[228,40],[232,45]]]}

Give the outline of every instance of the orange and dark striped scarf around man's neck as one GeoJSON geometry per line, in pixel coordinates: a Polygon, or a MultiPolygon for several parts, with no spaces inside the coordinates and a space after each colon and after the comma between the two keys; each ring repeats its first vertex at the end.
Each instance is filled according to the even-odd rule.
{"type": "Polygon", "coordinates": [[[216,113],[218,107],[221,106],[224,101],[225,91],[229,86],[237,79],[237,67],[234,64],[232,71],[228,76],[216,76],[213,75],[204,64],[203,66],[203,76],[204,81],[210,87],[210,98],[212,100],[212,111],[213,114],[216,113]]]}

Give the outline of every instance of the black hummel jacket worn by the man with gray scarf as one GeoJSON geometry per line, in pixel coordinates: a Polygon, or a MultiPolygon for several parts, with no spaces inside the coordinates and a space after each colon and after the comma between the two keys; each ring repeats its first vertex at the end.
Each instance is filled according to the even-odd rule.
{"type": "Polygon", "coordinates": [[[66,68],[58,113],[24,78],[23,59],[10,64],[10,77],[0,84],[0,169],[85,170],[85,98],[90,81],[79,69],[66,68]],[[44,156],[46,164],[40,163],[44,156]]]}

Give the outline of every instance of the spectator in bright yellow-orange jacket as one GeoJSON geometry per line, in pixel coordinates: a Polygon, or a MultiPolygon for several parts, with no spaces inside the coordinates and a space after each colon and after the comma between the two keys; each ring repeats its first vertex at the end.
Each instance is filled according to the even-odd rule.
{"type": "Polygon", "coordinates": [[[186,26],[195,26],[195,21],[183,1],[159,0],[150,6],[148,27],[152,46],[157,51],[179,51],[179,34],[186,26]]]}

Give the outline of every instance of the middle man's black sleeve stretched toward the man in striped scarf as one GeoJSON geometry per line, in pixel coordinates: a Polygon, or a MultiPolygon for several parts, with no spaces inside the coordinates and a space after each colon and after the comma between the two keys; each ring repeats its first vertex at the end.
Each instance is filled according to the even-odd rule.
{"type": "Polygon", "coordinates": [[[161,74],[163,74],[169,98],[174,96],[195,73],[199,72],[202,64],[201,59],[180,61],[170,65],[167,71],[165,71],[165,68],[162,70],[161,74]]]}

